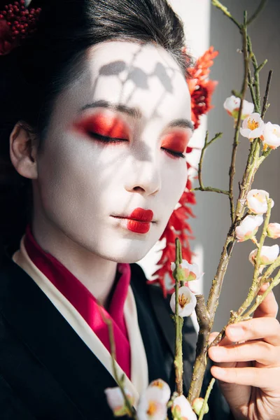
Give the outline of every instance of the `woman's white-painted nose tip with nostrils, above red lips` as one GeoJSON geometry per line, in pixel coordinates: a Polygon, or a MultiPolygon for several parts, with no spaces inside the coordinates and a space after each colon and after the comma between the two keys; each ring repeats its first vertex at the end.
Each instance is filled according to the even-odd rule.
{"type": "Polygon", "coordinates": [[[155,156],[150,155],[148,160],[134,160],[130,174],[125,182],[125,189],[130,193],[156,195],[162,187],[159,162],[155,156]]]}

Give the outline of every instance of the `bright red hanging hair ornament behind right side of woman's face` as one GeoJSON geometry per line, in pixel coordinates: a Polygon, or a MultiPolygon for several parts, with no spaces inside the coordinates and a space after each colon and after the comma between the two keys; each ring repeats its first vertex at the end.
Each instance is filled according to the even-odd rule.
{"type": "MultiPolygon", "coordinates": [[[[186,48],[182,50],[189,60],[186,48]]],[[[190,90],[191,107],[192,107],[192,120],[195,130],[200,126],[201,117],[210,111],[211,97],[218,82],[209,80],[209,73],[214,64],[214,58],[218,55],[213,47],[204,52],[202,57],[198,58],[194,66],[188,68],[188,88],[190,90]]],[[[193,151],[193,148],[188,147],[187,153],[193,151]]],[[[190,162],[186,163],[188,169],[192,167],[190,162]]],[[[172,276],[171,262],[175,258],[175,239],[179,237],[182,244],[183,260],[191,262],[193,252],[190,248],[190,239],[192,237],[192,229],[188,223],[188,218],[195,217],[193,210],[190,206],[195,204],[195,193],[192,191],[192,181],[188,179],[186,188],[181,196],[179,204],[173,211],[165,231],[160,237],[160,241],[165,242],[165,248],[162,249],[162,255],[157,265],[160,267],[153,273],[156,278],[149,283],[158,283],[162,288],[163,294],[174,292],[174,278],[172,276]]]]}

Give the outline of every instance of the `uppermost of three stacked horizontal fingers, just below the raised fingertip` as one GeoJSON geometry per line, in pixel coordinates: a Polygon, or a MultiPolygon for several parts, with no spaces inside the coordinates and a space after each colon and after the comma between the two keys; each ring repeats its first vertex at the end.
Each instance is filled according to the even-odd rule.
{"type": "Polygon", "coordinates": [[[225,335],[232,342],[264,339],[273,346],[280,346],[280,324],[276,318],[252,318],[249,321],[228,325],[225,335]]]}

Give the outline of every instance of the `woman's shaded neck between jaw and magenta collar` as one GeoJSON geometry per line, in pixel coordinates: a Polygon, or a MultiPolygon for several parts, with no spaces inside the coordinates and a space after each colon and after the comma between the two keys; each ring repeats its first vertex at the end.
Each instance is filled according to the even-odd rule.
{"type": "Polygon", "coordinates": [[[40,222],[36,217],[31,229],[37,243],[53,255],[79,279],[87,290],[106,307],[114,280],[117,262],[105,260],[71,238],[51,223],[40,222]]]}

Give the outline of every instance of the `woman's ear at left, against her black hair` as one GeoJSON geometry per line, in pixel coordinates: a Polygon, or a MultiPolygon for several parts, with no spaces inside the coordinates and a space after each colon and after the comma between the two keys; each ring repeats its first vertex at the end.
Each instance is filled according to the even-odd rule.
{"type": "Polygon", "coordinates": [[[37,141],[20,122],[10,134],[10,160],[17,172],[25,178],[36,179],[37,172],[37,141]]]}

